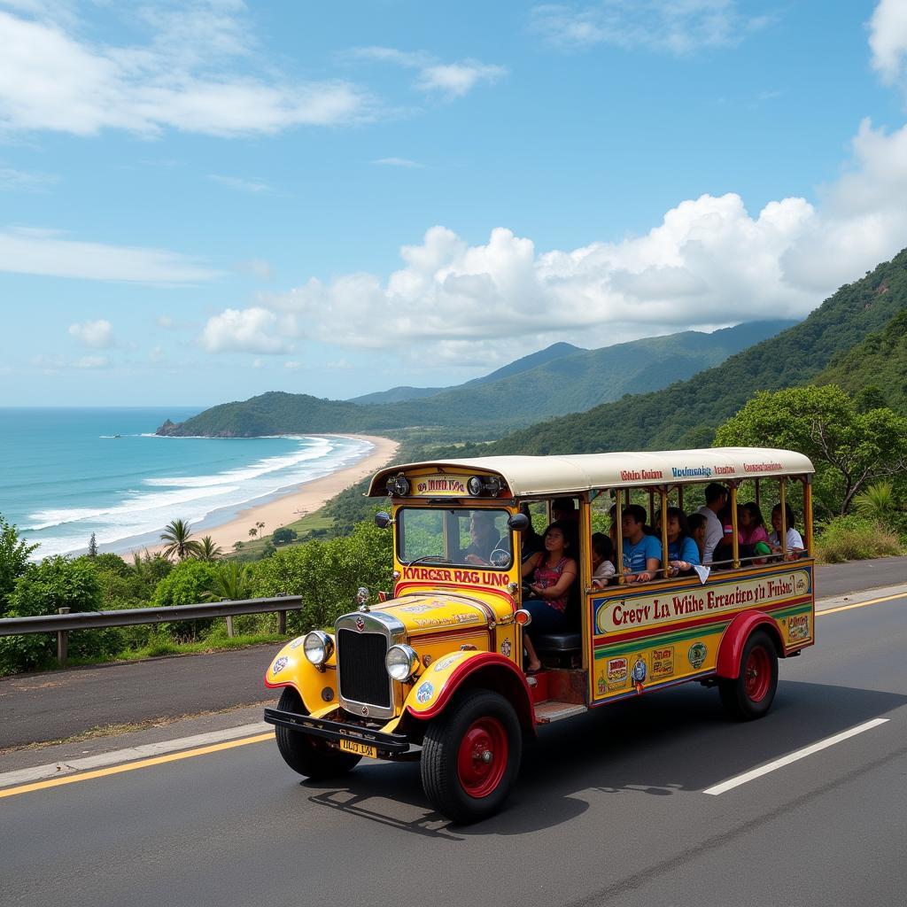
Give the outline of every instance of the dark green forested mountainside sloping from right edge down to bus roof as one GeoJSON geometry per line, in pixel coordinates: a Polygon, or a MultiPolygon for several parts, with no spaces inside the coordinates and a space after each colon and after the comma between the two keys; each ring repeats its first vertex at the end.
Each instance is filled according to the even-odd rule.
{"type": "MultiPolygon", "coordinates": [[[[840,288],[804,322],[751,346],[715,368],[656,393],[627,396],[458,453],[581,453],[658,450],[711,443],[718,424],[757,390],[814,381],[907,307],[907,249],[840,288]]],[[[842,360],[842,363],[844,360],[842,360]]],[[[880,362],[881,365],[881,362],[880,362]]],[[[853,372],[859,358],[848,360],[853,372]]],[[[892,401],[893,403],[893,401],[892,401]]],[[[453,452],[448,452],[453,453],[453,452]]]]}

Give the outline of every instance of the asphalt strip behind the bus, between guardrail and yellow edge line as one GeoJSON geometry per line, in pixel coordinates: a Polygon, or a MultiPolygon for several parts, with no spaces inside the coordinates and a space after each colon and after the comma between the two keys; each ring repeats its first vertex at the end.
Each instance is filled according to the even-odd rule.
{"type": "MultiPolygon", "coordinates": [[[[822,596],[907,582],[907,557],[818,568],[822,596]]],[[[89,728],[245,706],[273,698],[262,676],[274,646],[0,680],[0,750],[89,728]]]]}

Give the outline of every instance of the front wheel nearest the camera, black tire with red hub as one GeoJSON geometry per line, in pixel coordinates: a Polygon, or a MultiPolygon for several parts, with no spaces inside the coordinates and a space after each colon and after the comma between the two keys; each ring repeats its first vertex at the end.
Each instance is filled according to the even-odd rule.
{"type": "Polygon", "coordinates": [[[522,730],[512,705],[491,690],[464,692],[425,729],[425,795],[454,822],[478,822],[496,813],[507,799],[521,757],[522,730]],[[485,753],[491,756],[487,762],[485,753]]]}

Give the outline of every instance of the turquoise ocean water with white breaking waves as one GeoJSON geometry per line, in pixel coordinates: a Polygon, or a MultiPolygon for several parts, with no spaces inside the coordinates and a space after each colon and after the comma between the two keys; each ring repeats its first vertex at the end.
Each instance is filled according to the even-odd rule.
{"type": "Polygon", "coordinates": [[[35,557],[156,544],[171,520],[193,533],[374,448],[342,436],[161,438],[200,407],[0,408],[0,513],[35,557]]]}

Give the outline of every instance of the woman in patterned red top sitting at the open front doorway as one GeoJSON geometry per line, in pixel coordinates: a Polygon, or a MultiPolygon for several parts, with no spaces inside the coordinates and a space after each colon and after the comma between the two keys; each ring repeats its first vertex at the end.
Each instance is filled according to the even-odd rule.
{"type": "MultiPolygon", "coordinates": [[[[576,561],[571,557],[575,549],[575,527],[570,521],[552,522],[542,536],[545,550],[522,565],[523,577],[532,574],[529,591],[533,598],[522,607],[532,614],[529,633],[557,633],[567,625],[567,597],[573,580],[576,580],[576,561]]],[[[541,668],[541,661],[532,645],[532,637],[523,633],[523,644],[529,656],[526,673],[541,668]]]]}

